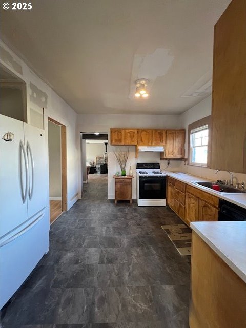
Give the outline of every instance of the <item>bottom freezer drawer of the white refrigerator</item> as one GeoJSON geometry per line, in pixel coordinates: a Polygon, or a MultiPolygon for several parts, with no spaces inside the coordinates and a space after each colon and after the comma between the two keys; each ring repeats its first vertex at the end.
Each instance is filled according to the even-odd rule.
{"type": "Polygon", "coordinates": [[[0,310],[49,250],[47,208],[24,226],[4,240],[0,239],[0,310]]]}

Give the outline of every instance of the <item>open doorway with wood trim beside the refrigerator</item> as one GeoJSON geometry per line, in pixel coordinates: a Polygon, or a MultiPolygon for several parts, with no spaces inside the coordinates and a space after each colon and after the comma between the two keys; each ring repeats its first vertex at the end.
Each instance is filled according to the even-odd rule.
{"type": "Polygon", "coordinates": [[[67,211],[66,126],[48,117],[50,224],[67,211]]]}

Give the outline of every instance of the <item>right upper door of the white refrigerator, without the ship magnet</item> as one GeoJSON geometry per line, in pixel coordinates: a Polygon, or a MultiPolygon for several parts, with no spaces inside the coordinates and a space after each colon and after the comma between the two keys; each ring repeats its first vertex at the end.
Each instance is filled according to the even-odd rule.
{"type": "Polygon", "coordinates": [[[48,206],[48,159],[45,131],[24,123],[25,146],[29,164],[28,218],[48,206]]]}

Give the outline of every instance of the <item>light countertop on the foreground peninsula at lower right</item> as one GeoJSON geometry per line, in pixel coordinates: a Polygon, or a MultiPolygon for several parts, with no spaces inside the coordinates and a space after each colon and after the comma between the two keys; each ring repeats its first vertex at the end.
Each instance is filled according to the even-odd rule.
{"type": "Polygon", "coordinates": [[[191,222],[191,229],[246,282],[246,221],[191,222]]]}

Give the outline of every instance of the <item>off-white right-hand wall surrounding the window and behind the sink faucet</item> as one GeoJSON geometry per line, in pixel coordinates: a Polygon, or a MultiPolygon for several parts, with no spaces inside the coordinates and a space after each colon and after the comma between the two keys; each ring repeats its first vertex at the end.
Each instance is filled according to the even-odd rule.
{"type": "MultiPolygon", "coordinates": [[[[203,118],[206,116],[211,115],[211,109],[212,109],[212,96],[207,97],[206,99],[202,100],[199,104],[196,106],[190,108],[188,111],[180,115],[180,124],[182,128],[186,129],[187,132],[187,138],[186,138],[186,157],[188,154],[188,126],[189,124],[203,118]]],[[[215,140],[214,140],[215,142],[215,140]]],[[[219,169],[219,168],[218,168],[219,169]]],[[[221,171],[218,173],[218,175],[215,174],[215,170],[211,170],[209,168],[199,167],[199,166],[192,166],[187,165],[184,166],[182,164],[182,171],[212,179],[215,180],[229,180],[230,181],[230,175],[228,172],[221,171]]],[[[236,180],[238,182],[246,181],[246,174],[242,173],[233,173],[235,176],[234,184],[236,180]]]]}

